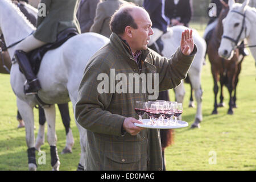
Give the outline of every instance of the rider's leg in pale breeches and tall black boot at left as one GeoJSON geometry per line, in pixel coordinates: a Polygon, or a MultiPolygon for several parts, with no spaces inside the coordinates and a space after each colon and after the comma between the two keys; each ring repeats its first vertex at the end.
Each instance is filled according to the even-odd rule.
{"type": "Polygon", "coordinates": [[[46,43],[36,39],[33,35],[30,35],[16,46],[14,56],[18,61],[19,68],[27,79],[24,84],[25,94],[36,94],[38,90],[41,89],[40,82],[32,71],[26,53],[39,48],[44,44],[46,43]]]}

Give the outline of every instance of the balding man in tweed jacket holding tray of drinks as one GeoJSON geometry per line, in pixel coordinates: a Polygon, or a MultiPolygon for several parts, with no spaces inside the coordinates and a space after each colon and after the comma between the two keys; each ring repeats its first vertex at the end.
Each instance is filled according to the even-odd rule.
{"type": "Polygon", "coordinates": [[[150,16],[143,8],[121,7],[110,22],[113,32],[110,43],[96,52],[85,68],[75,107],[77,122],[87,130],[85,170],[163,168],[159,130],[134,125],[141,123],[134,111],[135,102],[148,101],[149,94],[142,92],[143,84],[127,81],[125,77],[158,74],[159,79],[151,83],[159,91],[175,88],[187,76],[196,46],[192,31],[185,30],[181,45],[171,59],[161,57],[147,48],[154,33],[151,25],[150,16]],[[109,80],[102,79],[105,77],[109,80]],[[107,82],[104,92],[102,80],[107,82]],[[123,92],[117,89],[120,82],[119,89],[123,92]],[[136,86],[139,92],[126,92],[136,86]]]}

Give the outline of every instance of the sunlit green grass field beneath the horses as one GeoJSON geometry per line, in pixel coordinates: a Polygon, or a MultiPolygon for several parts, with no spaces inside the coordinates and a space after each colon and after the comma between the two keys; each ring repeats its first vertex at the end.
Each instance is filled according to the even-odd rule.
{"type": "MultiPolygon", "coordinates": [[[[192,27],[194,24],[192,24],[192,27]]],[[[197,25],[197,27],[200,27],[197,25]]],[[[203,35],[203,30],[200,30],[203,35]]],[[[256,170],[256,68],[253,57],[248,56],[242,63],[240,81],[237,88],[237,109],[228,115],[228,91],[224,88],[225,107],[213,110],[213,79],[210,63],[203,67],[203,122],[201,129],[175,130],[174,145],[166,148],[167,170],[256,170]]],[[[189,85],[185,85],[183,120],[193,123],[196,109],[188,107],[189,85]]],[[[10,76],[0,75],[0,170],[27,170],[27,145],[25,129],[17,129],[16,102],[10,86],[10,76]]],[[[174,92],[170,90],[174,100],[174,92]]],[[[72,105],[69,103],[70,111],[72,105]]],[[[38,110],[35,110],[35,136],[38,133],[38,110]]],[[[57,148],[60,157],[60,170],[76,170],[80,159],[79,132],[73,113],[71,128],[75,139],[72,154],[61,155],[65,146],[65,129],[56,107],[57,148]]],[[[46,129],[47,131],[47,129],[46,129]]],[[[51,170],[49,145],[41,147],[46,152],[46,164],[38,164],[38,170],[51,170]]],[[[37,159],[38,152],[36,152],[37,159]]]]}

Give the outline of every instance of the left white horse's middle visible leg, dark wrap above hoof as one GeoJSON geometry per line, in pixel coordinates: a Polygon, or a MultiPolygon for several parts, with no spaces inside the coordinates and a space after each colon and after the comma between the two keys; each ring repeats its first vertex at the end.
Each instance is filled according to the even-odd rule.
{"type": "Polygon", "coordinates": [[[46,114],[47,121],[47,141],[51,147],[51,166],[53,171],[59,171],[60,160],[57,154],[57,137],[55,131],[55,105],[44,107],[44,113],[46,114]]]}

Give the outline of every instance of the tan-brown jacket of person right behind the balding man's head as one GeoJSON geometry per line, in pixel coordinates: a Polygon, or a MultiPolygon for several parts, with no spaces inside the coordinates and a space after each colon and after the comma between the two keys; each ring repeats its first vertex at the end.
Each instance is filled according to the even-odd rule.
{"type": "Polygon", "coordinates": [[[106,0],[98,3],[96,16],[92,27],[90,27],[90,32],[96,32],[109,38],[111,34],[109,27],[110,18],[123,3],[127,2],[123,0],[106,0]]]}

